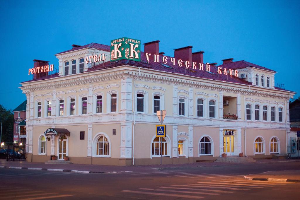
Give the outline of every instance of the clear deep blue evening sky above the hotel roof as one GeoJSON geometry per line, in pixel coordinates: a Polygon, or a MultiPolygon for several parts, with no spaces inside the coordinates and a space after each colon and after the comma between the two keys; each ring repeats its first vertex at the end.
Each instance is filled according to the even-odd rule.
{"type": "Polygon", "coordinates": [[[300,93],[299,10],[299,1],[1,1],[0,104],[14,109],[26,100],[18,87],[32,79],[33,59],[58,68],[54,54],[72,44],[119,37],[160,40],[170,56],[191,45],[204,62],[246,60],[300,93]]]}

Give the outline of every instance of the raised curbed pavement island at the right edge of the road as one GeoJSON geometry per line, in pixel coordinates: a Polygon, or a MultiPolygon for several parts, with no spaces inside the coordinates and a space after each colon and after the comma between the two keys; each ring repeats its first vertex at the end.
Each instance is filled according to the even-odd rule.
{"type": "Polygon", "coordinates": [[[300,182],[300,170],[270,171],[244,176],[251,181],[300,182]]]}

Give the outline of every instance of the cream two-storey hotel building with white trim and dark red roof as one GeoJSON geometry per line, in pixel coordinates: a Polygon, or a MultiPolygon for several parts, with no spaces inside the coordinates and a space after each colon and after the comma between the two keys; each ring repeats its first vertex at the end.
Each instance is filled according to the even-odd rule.
{"type": "MultiPolygon", "coordinates": [[[[192,46],[164,56],[158,40],[144,52],[125,48],[129,60],[115,60],[123,52],[115,41],[72,45],[55,54],[58,73],[21,83],[29,162],[56,155],[124,166],[159,164],[160,152],[164,164],[287,153],[295,92],[275,87],[274,70],[233,58],[204,64],[204,52],[192,46]],[[139,61],[130,60],[133,53],[139,61]],[[157,110],[167,111],[166,137],[156,137],[157,110]]],[[[34,68],[45,63],[35,60],[34,68]]]]}

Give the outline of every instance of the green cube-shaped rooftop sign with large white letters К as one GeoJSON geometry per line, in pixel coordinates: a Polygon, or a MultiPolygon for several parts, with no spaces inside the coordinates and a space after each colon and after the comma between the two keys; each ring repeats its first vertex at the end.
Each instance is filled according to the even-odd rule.
{"type": "Polygon", "coordinates": [[[141,61],[141,40],[121,37],[110,41],[110,61],[141,61]]]}

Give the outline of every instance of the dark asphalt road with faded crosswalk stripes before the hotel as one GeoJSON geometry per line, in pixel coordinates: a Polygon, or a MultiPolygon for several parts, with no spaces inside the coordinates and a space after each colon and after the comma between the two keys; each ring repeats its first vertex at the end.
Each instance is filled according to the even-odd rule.
{"type": "Polygon", "coordinates": [[[216,163],[116,174],[0,168],[0,199],[299,199],[300,183],[242,178],[285,169],[299,170],[300,162],[216,163]]]}

